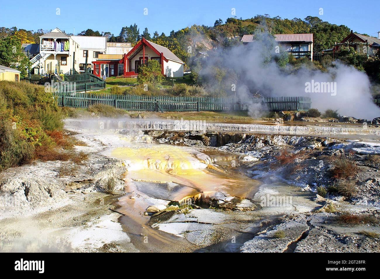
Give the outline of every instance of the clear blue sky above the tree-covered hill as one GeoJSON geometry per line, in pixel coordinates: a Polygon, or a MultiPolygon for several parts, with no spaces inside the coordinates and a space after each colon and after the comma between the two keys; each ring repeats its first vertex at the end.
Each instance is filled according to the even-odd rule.
{"type": "Polygon", "coordinates": [[[100,32],[111,32],[119,35],[122,26],[136,23],[140,32],[148,27],[151,35],[154,31],[169,35],[171,30],[193,24],[214,25],[216,19],[223,21],[232,17],[231,9],[235,8],[236,16],[243,19],[256,14],[269,14],[293,19],[306,16],[318,16],[323,21],[333,24],[344,24],[354,32],[377,36],[380,31],[380,1],[368,0],[358,3],[357,0],[336,1],[279,1],[279,0],[182,0],[182,1],[98,1],[67,0],[30,2],[24,0],[0,0],[0,26],[27,30],[50,30],[58,27],[67,33],[79,33],[88,28],[100,32]],[[60,15],[56,9],[60,9],[60,15]],[[147,8],[147,15],[144,15],[147,8]],[[323,8],[323,15],[319,15],[323,8]]]}

